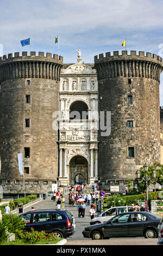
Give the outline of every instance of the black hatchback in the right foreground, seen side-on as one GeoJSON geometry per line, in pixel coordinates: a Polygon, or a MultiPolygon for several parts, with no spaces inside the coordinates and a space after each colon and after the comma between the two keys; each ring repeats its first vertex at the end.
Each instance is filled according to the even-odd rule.
{"type": "Polygon", "coordinates": [[[151,212],[126,212],[112,217],[103,224],[90,225],[84,228],[83,235],[93,240],[110,237],[158,237],[160,217],[151,212]]]}

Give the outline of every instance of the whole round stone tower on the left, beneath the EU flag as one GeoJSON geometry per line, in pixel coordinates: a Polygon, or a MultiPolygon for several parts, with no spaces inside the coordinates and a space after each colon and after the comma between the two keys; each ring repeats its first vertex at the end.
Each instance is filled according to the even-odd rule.
{"type": "Polygon", "coordinates": [[[4,192],[21,193],[17,153],[23,153],[26,193],[51,191],[58,177],[58,131],[62,57],[22,52],[0,59],[0,157],[4,192]]]}

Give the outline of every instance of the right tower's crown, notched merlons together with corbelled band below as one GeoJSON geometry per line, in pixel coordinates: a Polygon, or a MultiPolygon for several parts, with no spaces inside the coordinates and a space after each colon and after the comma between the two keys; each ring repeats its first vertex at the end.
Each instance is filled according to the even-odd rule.
{"type": "Polygon", "coordinates": [[[109,77],[145,77],[160,82],[162,58],[150,52],[118,51],[106,52],[95,56],[98,80],[109,77]]]}

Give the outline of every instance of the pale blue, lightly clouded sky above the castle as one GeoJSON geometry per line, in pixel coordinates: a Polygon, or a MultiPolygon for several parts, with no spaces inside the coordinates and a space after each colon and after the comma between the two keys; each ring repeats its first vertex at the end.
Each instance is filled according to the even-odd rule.
{"type": "MultiPolygon", "coordinates": [[[[151,52],[163,57],[162,0],[0,0],[0,56],[28,51],[20,40],[30,37],[30,50],[58,54],[54,43],[59,34],[59,53],[64,63],[76,63],[76,49],[82,61],[94,56],[123,51],[151,52]]],[[[163,72],[160,80],[163,106],[163,72]]]]}

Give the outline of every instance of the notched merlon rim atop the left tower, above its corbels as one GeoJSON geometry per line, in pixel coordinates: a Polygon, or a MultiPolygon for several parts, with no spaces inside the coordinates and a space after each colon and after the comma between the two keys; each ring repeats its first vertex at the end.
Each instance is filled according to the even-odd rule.
{"type": "Polygon", "coordinates": [[[0,57],[0,64],[1,62],[4,61],[11,61],[11,60],[43,60],[43,61],[50,61],[50,62],[57,62],[57,63],[63,63],[63,57],[62,56],[58,56],[58,54],[53,54],[52,57],[52,53],[45,53],[44,52],[39,52],[39,55],[36,56],[36,52],[30,52],[30,55],[28,55],[27,52],[22,52],[22,56],[20,56],[20,52],[15,52],[14,56],[12,53],[9,53],[8,55],[5,54],[3,57],[0,57]]]}

